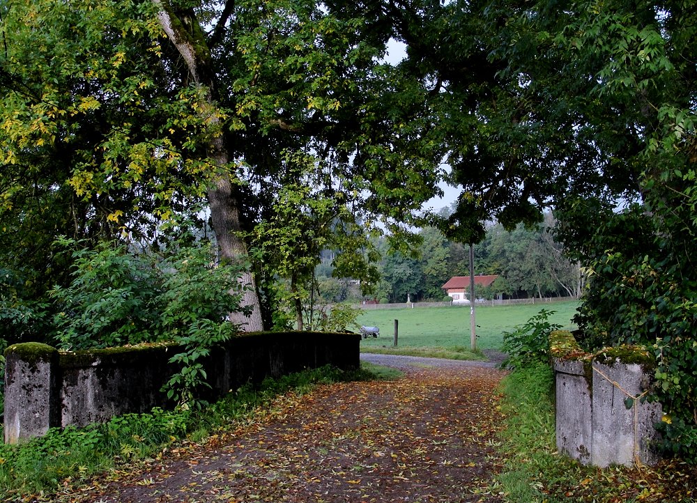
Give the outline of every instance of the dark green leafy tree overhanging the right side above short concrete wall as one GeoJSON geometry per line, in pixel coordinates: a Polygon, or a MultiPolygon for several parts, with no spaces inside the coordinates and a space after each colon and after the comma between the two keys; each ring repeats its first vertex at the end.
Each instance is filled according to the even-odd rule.
{"type": "Polygon", "coordinates": [[[459,105],[443,132],[468,214],[511,229],[556,208],[560,239],[591,274],[581,327],[652,347],[657,396],[680,418],[666,438],[694,459],[697,10],[463,1],[411,19],[413,64],[434,99],[459,105]],[[477,77],[457,72],[474,63],[477,77]],[[618,199],[641,206],[615,212],[618,199]]]}

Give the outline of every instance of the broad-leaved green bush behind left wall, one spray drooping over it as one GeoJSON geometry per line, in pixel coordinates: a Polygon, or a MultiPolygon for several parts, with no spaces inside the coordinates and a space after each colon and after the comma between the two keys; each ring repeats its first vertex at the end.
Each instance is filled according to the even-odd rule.
{"type": "MultiPolygon", "coordinates": [[[[64,247],[77,242],[61,240],[64,247]]],[[[54,288],[60,307],[56,343],[61,349],[105,348],[174,341],[184,347],[170,362],[181,370],[163,391],[180,405],[200,405],[207,387],[200,359],[238,330],[227,316],[240,310],[241,265],[215,265],[210,245],[178,246],[162,255],[135,254],[125,245],[76,249],[66,288],[54,288]]]]}

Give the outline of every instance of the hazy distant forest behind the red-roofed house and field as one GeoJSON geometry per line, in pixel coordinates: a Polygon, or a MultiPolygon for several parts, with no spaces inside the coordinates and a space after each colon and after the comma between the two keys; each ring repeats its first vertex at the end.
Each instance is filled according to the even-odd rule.
{"type": "MultiPolygon", "coordinates": [[[[447,213],[448,208],[441,210],[447,213]]],[[[487,225],[486,238],[475,245],[475,274],[498,274],[489,288],[477,297],[578,297],[584,275],[579,263],[563,254],[552,228],[551,213],[534,229],[519,225],[506,231],[501,224],[487,225]]],[[[443,284],[453,276],[469,274],[469,246],[451,242],[441,231],[424,227],[418,232],[420,244],[411,252],[390,252],[384,236],[375,238],[381,252],[380,280],[374,293],[362,295],[357,281],[332,277],[334,254],[325,250],[315,271],[317,291],[324,302],[376,300],[380,303],[449,300],[443,284]]]]}

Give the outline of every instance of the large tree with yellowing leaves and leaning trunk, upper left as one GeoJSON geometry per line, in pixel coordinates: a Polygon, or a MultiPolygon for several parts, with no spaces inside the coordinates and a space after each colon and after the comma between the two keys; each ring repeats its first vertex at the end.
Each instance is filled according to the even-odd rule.
{"type": "MultiPolygon", "coordinates": [[[[288,153],[321,160],[314,187],[350,208],[346,225],[406,232],[437,192],[439,146],[420,82],[378,63],[392,22],[364,7],[2,3],[7,249],[20,261],[37,248],[45,256],[56,227],[93,242],[152,241],[160,222],[206,206],[220,258],[244,263],[244,236],[275,218],[288,153]],[[26,229],[40,239],[22,249],[11,235],[26,229]]],[[[238,320],[249,330],[266,311],[252,272],[255,263],[240,279],[251,286],[254,315],[238,320]]]]}

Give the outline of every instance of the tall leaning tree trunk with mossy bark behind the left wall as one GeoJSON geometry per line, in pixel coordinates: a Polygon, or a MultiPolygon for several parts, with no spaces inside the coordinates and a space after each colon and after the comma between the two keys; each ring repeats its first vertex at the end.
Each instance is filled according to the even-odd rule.
{"type": "MultiPolygon", "coordinates": [[[[210,68],[210,47],[206,44],[206,37],[198,24],[192,10],[179,12],[169,5],[167,0],[152,0],[158,7],[158,20],[167,33],[170,42],[176,47],[184,59],[192,82],[201,86],[204,90],[204,98],[199,107],[199,113],[205,114],[213,130],[217,129],[220,119],[217,114],[209,113],[215,110],[215,73],[210,68]]],[[[229,150],[225,145],[224,137],[220,134],[212,134],[208,145],[208,157],[215,162],[218,168],[227,167],[230,161],[229,150]]],[[[210,218],[213,221],[213,229],[217,239],[220,258],[222,261],[238,262],[247,258],[247,245],[238,232],[242,230],[240,224],[240,201],[233,194],[232,175],[220,169],[215,175],[213,183],[208,187],[208,204],[210,205],[210,218]]],[[[263,330],[261,321],[261,309],[259,309],[259,295],[254,284],[251,272],[245,272],[240,277],[240,282],[245,287],[242,306],[252,310],[250,316],[242,313],[233,313],[230,320],[238,323],[245,332],[263,330]]]]}

